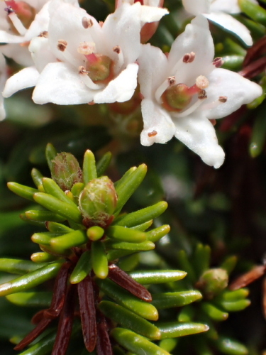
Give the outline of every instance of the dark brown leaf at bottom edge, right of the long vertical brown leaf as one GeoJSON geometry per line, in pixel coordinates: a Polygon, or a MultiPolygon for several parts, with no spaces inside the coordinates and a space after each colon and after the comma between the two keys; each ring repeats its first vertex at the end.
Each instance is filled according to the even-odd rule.
{"type": "Polygon", "coordinates": [[[105,317],[98,312],[97,319],[97,355],[113,355],[105,317]]]}

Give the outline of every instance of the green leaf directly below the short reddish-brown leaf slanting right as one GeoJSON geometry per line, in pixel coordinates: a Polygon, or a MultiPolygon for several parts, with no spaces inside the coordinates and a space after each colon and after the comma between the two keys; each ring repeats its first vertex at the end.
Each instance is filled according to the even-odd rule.
{"type": "Polygon", "coordinates": [[[116,283],[113,283],[108,278],[105,280],[96,279],[96,283],[106,295],[116,301],[119,305],[128,308],[128,310],[131,310],[136,315],[140,315],[140,317],[143,317],[146,320],[158,319],[158,312],[153,305],[131,295],[131,293],[116,285],[116,283]]]}

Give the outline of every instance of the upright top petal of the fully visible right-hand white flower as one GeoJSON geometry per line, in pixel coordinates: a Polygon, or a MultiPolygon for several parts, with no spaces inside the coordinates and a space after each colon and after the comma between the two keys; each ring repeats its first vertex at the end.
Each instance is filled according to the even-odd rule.
{"type": "Polygon", "coordinates": [[[204,16],[196,16],[172,44],[168,57],[169,75],[174,75],[177,82],[193,85],[196,77],[207,76],[214,69],[213,59],[214,41],[209,23],[204,16]],[[182,58],[191,52],[195,53],[193,62],[184,63],[182,58]]]}

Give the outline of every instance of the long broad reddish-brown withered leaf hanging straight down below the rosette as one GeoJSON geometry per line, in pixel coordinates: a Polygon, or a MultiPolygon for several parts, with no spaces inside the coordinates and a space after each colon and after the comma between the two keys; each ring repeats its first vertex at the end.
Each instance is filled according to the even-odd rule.
{"type": "Polygon", "coordinates": [[[94,288],[92,278],[87,275],[77,284],[79,310],[82,320],[82,332],[86,349],[91,352],[96,346],[96,311],[94,305],[94,288]]]}

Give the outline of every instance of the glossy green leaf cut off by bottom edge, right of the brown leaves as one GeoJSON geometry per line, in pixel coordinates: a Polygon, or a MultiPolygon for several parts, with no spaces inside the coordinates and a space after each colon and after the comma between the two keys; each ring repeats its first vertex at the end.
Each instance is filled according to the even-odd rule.
{"type": "Polygon", "coordinates": [[[117,327],[111,330],[111,337],[113,337],[118,344],[136,355],[170,355],[167,351],[150,342],[148,339],[128,329],[117,327]]]}

